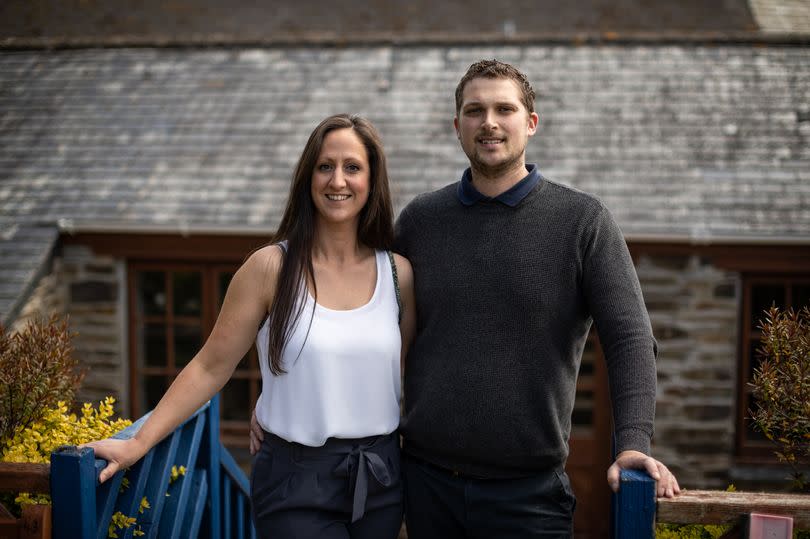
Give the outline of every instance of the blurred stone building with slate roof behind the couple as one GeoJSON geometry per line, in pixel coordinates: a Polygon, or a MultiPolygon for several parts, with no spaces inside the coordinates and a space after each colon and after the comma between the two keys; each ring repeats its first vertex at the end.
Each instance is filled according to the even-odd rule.
{"type": "MultiPolygon", "coordinates": [[[[222,15],[224,34],[218,2],[162,18],[88,3],[61,27],[36,4],[0,8],[14,16],[0,17],[0,321],[69,314],[80,398],[115,395],[131,416],[154,405],[278,223],[324,116],[379,127],[397,211],[456,181],[455,84],[495,57],[538,94],[528,161],[598,195],[625,233],[659,341],[655,455],[690,488],[784,475],[746,423],[746,384],[762,310],[810,304],[806,2],[513,1],[434,18],[419,2],[301,4],[222,15]]],[[[583,537],[602,536],[607,511],[602,363],[594,338],[569,460],[583,537]]],[[[258,379],[248,356],[224,391],[235,447],[258,379]]]]}

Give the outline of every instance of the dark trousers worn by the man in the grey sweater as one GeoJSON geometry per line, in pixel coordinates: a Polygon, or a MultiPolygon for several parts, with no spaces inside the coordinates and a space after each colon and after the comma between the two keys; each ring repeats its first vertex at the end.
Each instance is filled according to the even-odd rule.
{"type": "Polygon", "coordinates": [[[576,499],[565,470],[481,479],[402,457],[408,539],[570,538],[576,499]]]}

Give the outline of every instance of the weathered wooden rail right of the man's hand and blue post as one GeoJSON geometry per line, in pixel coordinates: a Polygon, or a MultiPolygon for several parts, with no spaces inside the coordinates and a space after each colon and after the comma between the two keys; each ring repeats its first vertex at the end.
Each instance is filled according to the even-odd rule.
{"type": "Polygon", "coordinates": [[[793,517],[793,527],[810,528],[810,496],[760,492],[686,490],[658,499],[658,522],[668,524],[737,524],[748,513],[793,517]]]}

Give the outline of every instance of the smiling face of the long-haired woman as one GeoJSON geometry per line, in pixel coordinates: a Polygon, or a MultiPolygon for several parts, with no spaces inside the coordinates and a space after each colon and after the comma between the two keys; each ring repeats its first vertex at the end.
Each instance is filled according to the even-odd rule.
{"type": "Polygon", "coordinates": [[[311,194],[316,219],[357,224],[368,201],[371,167],[368,153],[354,129],[331,131],[324,139],[312,171],[311,194]]]}

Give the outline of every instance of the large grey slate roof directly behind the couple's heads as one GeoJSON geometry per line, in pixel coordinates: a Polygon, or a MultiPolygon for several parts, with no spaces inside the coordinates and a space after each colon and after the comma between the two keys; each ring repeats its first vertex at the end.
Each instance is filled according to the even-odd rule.
{"type": "Polygon", "coordinates": [[[528,160],[600,196],[628,238],[810,244],[807,47],[5,51],[0,283],[11,294],[0,315],[13,313],[56,226],[271,230],[328,114],[378,126],[397,209],[454,181],[466,159],[452,95],[482,57],[534,83],[528,160]]]}

